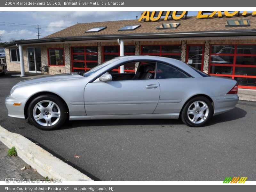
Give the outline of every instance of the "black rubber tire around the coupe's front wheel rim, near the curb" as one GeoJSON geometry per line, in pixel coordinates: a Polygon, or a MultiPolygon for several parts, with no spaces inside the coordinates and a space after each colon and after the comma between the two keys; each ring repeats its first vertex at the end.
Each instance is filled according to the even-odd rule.
{"type": "MultiPolygon", "coordinates": [[[[45,102],[45,104],[47,105],[47,102],[45,102]]],[[[43,106],[44,106],[44,103],[43,103],[43,106]]],[[[44,106],[46,107],[46,106],[44,106]]],[[[46,109],[46,108],[44,108],[46,109]]],[[[39,113],[40,111],[38,111],[38,109],[36,109],[37,113],[39,113]]],[[[53,109],[54,110],[54,109],[53,109]]],[[[51,111],[50,111],[51,112],[51,111]]],[[[43,114],[44,117],[46,114],[46,112],[42,112],[42,113],[45,113],[43,114]]],[[[39,113],[41,114],[41,112],[39,113]]],[[[53,114],[52,114],[53,115],[53,114]]],[[[48,116],[47,116],[48,117],[48,116]]],[[[32,123],[34,126],[36,126],[37,128],[39,129],[42,129],[42,130],[54,130],[54,129],[58,129],[61,127],[61,125],[63,125],[66,120],[67,120],[67,117],[68,117],[68,109],[66,107],[66,105],[63,103],[63,101],[58,97],[58,96],[55,96],[55,95],[41,95],[41,96],[38,96],[36,97],[34,100],[32,100],[30,102],[30,104],[28,105],[28,120],[30,121],[30,123],[32,123]],[[53,120],[56,120],[57,123],[53,124],[53,125],[42,125],[42,124],[47,124],[46,123],[46,120],[45,119],[40,119],[38,120],[39,124],[36,119],[34,118],[34,115],[33,115],[33,112],[34,112],[34,108],[35,106],[39,103],[39,102],[44,102],[44,101],[52,101],[54,102],[56,105],[53,106],[53,108],[55,108],[55,110],[60,113],[60,117],[58,119],[58,121],[56,120],[57,118],[56,117],[51,117],[51,113],[49,114],[49,111],[47,112],[48,115],[49,115],[49,119],[51,119],[51,121],[53,120]]],[[[45,117],[46,118],[46,117],[45,117]]],[[[49,123],[49,121],[48,121],[49,123]]]]}

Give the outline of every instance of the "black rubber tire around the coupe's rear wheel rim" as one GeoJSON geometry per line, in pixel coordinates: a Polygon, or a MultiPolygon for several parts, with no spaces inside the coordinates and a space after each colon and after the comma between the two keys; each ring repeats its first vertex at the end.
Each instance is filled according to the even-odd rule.
{"type": "MultiPolygon", "coordinates": [[[[196,106],[194,106],[194,105],[192,105],[191,107],[190,107],[190,109],[191,108],[193,108],[193,107],[196,107],[196,106]]],[[[201,106],[202,107],[202,106],[201,106]]],[[[201,110],[196,110],[195,109],[195,111],[196,111],[196,114],[197,114],[197,112],[198,112],[198,115],[199,115],[199,113],[201,114],[202,112],[201,112],[201,110]]],[[[205,111],[203,111],[203,113],[205,113],[206,112],[206,110],[205,111]]],[[[202,113],[202,114],[203,114],[202,113]]],[[[192,98],[192,99],[190,99],[190,100],[188,100],[187,101],[187,103],[185,103],[185,105],[184,105],[184,107],[183,107],[183,109],[182,109],[182,111],[181,111],[181,120],[182,120],[182,122],[184,123],[184,124],[186,124],[186,125],[188,125],[188,126],[190,126],[190,127],[202,127],[202,126],[204,126],[205,124],[207,124],[209,121],[210,121],[210,119],[212,118],[212,115],[213,115],[213,107],[212,107],[212,104],[211,104],[211,102],[206,98],[206,97],[203,97],[203,96],[198,96],[198,97],[194,97],[194,98],[192,98]],[[203,119],[203,118],[201,118],[201,117],[199,117],[198,118],[198,121],[197,121],[197,123],[193,123],[190,119],[192,119],[192,117],[194,116],[193,114],[189,114],[188,115],[188,108],[194,103],[194,102],[196,102],[196,101],[199,101],[199,104],[201,104],[202,105],[202,103],[200,102],[200,101],[202,101],[202,102],[204,102],[207,106],[208,106],[208,115],[207,115],[207,117],[205,118],[205,119],[203,119]],[[189,117],[190,117],[190,119],[189,119],[189,117]],[[202,119],[202,120],[201,120],[202,119]],[[203,122],[201,122],[200,123],[200,121],[203,121],[203,122]]],[[[200,115],[199,115],[200,116],[200,115]]]]}

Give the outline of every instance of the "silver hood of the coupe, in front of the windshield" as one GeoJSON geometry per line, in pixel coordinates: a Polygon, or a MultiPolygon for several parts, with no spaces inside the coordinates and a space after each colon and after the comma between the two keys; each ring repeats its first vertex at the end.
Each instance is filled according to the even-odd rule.
{"type": "Polygon", "coordinates": [[[76,79],[84,79],[86,77],[78,75],[77,72],[75,73],[66,73],[66,74],[58,74],[58,75],[51,75],[51,76],[45,76],[45,77],[36,77],[32,79],[28,79],[25,81],[20,81],[16,85],[13,86],[13,88],[31,85],[31,84],[40,84],[40,83],[46,83],[46,82],[58,82],[58,81],[71,81],[76,79]]]}

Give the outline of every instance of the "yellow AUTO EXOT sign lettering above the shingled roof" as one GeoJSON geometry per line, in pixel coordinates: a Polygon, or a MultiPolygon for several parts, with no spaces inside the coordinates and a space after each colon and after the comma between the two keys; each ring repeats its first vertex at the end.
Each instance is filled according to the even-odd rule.
{"type": "MultiPolygon", "coordinates": [[[[200,18],[211,18],[214,15],[218,15],[218,17],[233,17],[233,16],[238,16],[240,14],[239,11],[213,11],[213,12],[208,12],[209,14],[205,14],[203,11],[198,11],[196,18],[200,19],[200,18]],[[224,14],[223,14],[224,12],[224,14]]],[[[145,21],[157,21],[159,20],[161,17],[164,17],[164,20],[167,20],[170,16],[172,17],[172,19],[174,20],[179,20],[182,19],[184,16],[187,16],[188,12],[187,11],[144,11],[141,14],[141,17],[139,19],[139,21],[141,20],[145,20],[145,21]]],[[[251,13],[247,13],[247,11],[244,11],[242,13],[243,16],[247,15],[247,14],[251,14],[251,15],[256,15],[256,11],[251,12],[251,13]]]]}

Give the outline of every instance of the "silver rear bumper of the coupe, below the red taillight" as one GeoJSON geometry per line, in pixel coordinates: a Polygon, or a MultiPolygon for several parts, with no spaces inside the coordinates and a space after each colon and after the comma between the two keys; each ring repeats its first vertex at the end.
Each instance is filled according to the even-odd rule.
{"type": "Polygon", "coordinates": [[[239,100],[237,94],[228,94],[224,96],[214,97],[214,114],[219,115],[236,107],[239,100]]]}

